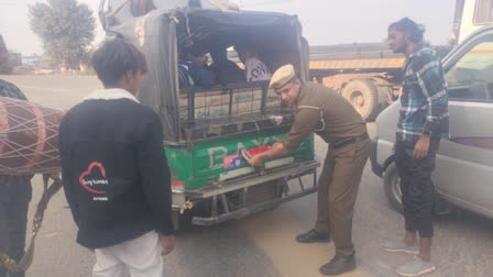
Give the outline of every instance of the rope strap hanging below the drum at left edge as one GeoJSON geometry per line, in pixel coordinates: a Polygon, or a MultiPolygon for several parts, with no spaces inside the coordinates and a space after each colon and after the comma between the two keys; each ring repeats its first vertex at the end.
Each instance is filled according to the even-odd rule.
{"type": "Polygon", "coordinates": [[[24,273],[31,266],[34,257],[34,240],[36,239],[37,233],[41,229],[44,211],[48,206],[50,199],[62,188],[62,178],[58,175],[43,175],[43,196],[37,203],[36,213],[34,214],[33,219],[33,232],[31,242],[24,256],[19,263],[15,263],[15,261],[13,261],[8,255],[0,253],[0,267],[6,268],[9,273],[24,273]],[[53,179],[51,186],[48,186],[50,179],[53,179]]]}

